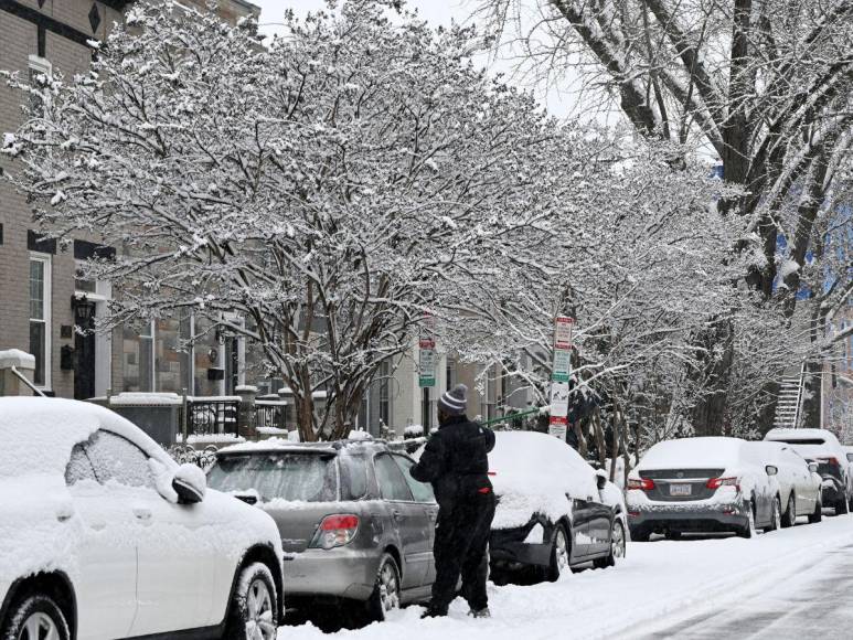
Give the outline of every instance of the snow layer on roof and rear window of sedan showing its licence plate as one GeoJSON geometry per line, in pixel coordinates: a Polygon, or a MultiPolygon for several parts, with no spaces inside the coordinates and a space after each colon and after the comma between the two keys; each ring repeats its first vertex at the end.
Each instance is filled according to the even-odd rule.
{"type": "Polygon", "coordinates": [[[740,460],[743,440],[737,438],[683,438],[654,445],[637,470],[727,468],[740,460]]]}

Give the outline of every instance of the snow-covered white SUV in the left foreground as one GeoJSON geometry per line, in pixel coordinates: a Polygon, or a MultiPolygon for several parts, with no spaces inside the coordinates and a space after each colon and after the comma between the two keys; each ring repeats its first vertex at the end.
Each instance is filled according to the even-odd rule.
{"type": "Polygon", "coordinates": [[[95,405],[0,398],[0,638],[275,638],[269,516],[95,405]]]}

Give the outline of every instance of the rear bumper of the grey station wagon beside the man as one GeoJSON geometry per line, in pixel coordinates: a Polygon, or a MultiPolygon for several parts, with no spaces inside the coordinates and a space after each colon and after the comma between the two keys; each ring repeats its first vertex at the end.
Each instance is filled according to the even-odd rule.
{"type": "Polygon", "coordinates": [[[332,596],[366,600],[378,570],[376,550],[309,548],[285,563],[287,596],[332,596]]]}

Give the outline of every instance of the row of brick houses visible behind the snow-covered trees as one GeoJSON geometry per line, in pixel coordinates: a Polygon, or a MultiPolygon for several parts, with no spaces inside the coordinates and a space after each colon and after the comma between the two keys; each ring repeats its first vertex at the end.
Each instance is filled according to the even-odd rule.
{"type": "MultiPolygon", "coordinates": [[[[184,0],[206,8],[206,0],[184,0]]],[[[35,76],[84,72],[92,60],[90,40],[103,40],[120,23],[125,0],[0,0],[0,68],[35,76]]],[[[236,22],[259,14],[245,0],[218,0],[220,15],[236,22]]],[[[20,95],[0,85],[0,134],[13,131],[23,114],[20,95]]],[[[0,158],[0,170],[10,170],[0,158]]],[[[252,384],[262,394],[277,393],[279,380],[265,380],[253,366],[245,340],[196,327],[192,316],[163,319],[146,327],[124,327],[111,334],[83,333],[105,313],[111,296],[107,282],[79,277],[78,264],[94,255],[121,250],[98,238],[78,236],[63,249],[40,237],[29,205],[0,180],[0,351],[19,349],[35,356],[34,383],[49,395],[78,399],[108,392],[177,392],[232,395],[252,384]],[[189,349],[181,345],[190,344],[189,349]],[[248,352],[248,353],[247,353],[248,352]],[[247,356],[248,355],[248,356],[247,356]]],[[[233,320],[233,319],[232,319],[233,320]]],[[[501,404],[524,406],[526,394],[513,392],[494,375],[482,393],[476,377],[482,366],[457,364],[441,355],[436,386],[418,386],[417,346],[401,359],[394,373],[385,365],[362,404],[359,426],[376,433],[380,424],[398,431],[413,424],[436,426],[438,395],[457,382],[471,388],[470,414],[495,417],[501,404]]]]}

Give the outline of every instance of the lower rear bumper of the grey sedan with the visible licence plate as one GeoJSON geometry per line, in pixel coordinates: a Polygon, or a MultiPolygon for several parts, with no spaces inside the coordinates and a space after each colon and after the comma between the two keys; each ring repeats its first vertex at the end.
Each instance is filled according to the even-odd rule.
{"type": "Polygon", "coordinates": [[[737,532],[747,525],[749,519],[743,504],[714,504],[690,509],[653,504],[630,506],[628,526],[632,536],[650,533],[716,533],[737,532]]]}

